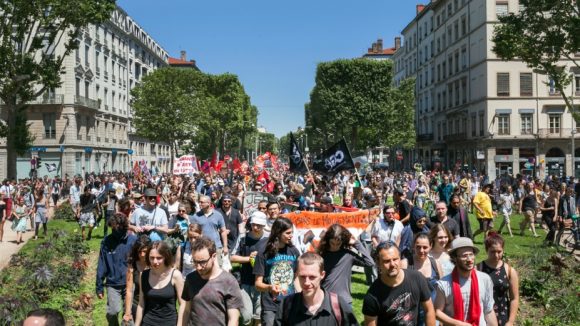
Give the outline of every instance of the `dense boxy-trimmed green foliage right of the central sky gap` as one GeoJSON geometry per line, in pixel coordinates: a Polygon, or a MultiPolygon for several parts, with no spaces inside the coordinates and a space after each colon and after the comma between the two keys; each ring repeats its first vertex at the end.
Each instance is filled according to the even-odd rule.
{"type": "Polygon", "coordinates": [[[368,59],[320,63],[305,107],[309,143],[345,137],[351,150],[414,145],[414,81],[392,86],[391,61],[368,59]]]}

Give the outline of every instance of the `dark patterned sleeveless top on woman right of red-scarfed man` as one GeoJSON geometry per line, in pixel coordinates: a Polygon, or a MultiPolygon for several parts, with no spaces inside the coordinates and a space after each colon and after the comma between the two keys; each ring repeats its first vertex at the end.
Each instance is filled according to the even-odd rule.
{"type": "Polygon", "coordinates": [[[493,310],[497,316],[498,325],[503,326],[510,317],[510,281],[507,277],[505,265],[491,268],[485,262],[481,263],[481,271],[488,274],[493,282],[493,310]]]}

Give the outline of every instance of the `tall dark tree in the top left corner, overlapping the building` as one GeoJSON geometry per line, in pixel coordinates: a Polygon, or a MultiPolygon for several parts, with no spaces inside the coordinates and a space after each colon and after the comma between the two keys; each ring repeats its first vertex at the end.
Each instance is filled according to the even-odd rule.
{"type": "Polygon", "coordinates": [[[0,99],[6,119],[7,172],[32,144],[26,103],[61,84],[63,61],[82,27],[107,20],[114,0],[5,0],[0,2],[0,99]],[[64,44],[64,51],[57,52],[64,44]]]}

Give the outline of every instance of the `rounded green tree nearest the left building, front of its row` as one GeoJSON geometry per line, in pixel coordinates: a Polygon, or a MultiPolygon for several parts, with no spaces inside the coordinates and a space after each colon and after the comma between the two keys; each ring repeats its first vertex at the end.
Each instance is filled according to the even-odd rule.
{"type": "Polygon", "coordinates": [[[171,166],[178,150],[195,138],[197,121],[208,117],[207,79],[197,70],[164,67],[144,76],[131,91],[137,134],[169,142],[171,166]]]}

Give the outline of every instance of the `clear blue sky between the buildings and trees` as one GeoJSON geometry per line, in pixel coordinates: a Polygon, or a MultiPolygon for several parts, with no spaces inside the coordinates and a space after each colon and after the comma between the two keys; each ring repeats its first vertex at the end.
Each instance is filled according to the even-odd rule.
{"type": "MultiPolygon", "coordinates": [[[[425,0],[425,3],[428,1],[425,0]]],[[[415,0],[118,0],[172,57],[187,51],[211,74],[239,76],[258,125],[280,137],[304,126],[319,62],[391,47],[415,0]]]]}

